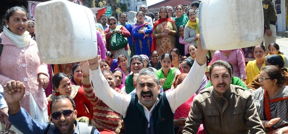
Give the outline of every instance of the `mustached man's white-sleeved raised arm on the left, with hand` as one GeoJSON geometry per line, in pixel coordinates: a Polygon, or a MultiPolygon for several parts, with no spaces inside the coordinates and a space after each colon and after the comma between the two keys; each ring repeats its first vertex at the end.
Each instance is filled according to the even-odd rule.
{"type": "Polygon", "coordinates": [[[106,105],[115,110],[115,112],[125,116],[131,100],[131,95],[120,94],[109,87],[107,80],[100,72],[98,57],[89,61],[81,61],[79,66],[83,71],[83,77],[90,76],[90,82],[92,83],[92,88],[95,92],[95,95],[100,98],[106,105]]]}

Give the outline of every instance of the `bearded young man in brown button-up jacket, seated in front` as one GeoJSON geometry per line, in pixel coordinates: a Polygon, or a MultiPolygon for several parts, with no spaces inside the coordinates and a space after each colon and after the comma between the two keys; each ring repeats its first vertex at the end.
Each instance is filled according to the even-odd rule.
{"type": "Polygon", "coordinates": [[[212,86],[194,97],[183,134],[196,134],[203,123],[207,133],[263,133],[254,99],[243,87],[232,85],[232,68],[218,60],[209,68],[212,86]]]}

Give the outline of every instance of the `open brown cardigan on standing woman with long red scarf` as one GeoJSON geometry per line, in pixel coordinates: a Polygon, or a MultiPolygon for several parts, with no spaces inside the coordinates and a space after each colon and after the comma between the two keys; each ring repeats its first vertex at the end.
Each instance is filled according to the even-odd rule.
{"type": "MultiPolygon", "coordinates": [[[[169,34],[171,44],[175,43],[176,38],[178,38],[177,26],[174,22],[167,22],[167,27],[171,30],[169,34]]],[[[156,39],[156,45],[161,45],[161,23],[158,24],[153,30],[153,38],[156,39]]]]}

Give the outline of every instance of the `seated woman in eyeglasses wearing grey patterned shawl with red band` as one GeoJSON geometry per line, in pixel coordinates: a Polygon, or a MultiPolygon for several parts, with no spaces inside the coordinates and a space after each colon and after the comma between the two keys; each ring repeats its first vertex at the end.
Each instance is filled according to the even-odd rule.
{"type": "Polygon", "coordinates": [[[288,87],[280,68],[264,66],[258,76],[261,87],[252,94],[266,133],[288,132],[288,87]],[[274,132],[272,132],[274,131],[274,132]]]}

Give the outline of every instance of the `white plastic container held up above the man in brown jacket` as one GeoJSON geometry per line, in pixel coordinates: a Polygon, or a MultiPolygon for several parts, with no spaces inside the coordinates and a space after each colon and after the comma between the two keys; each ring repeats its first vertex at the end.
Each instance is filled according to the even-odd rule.
{"type": "Polygon", "coordinates": [[[259,45],[263,41],[261,0],[203,0],[199,16],[204,49],[232,50],[259,45]]]}

